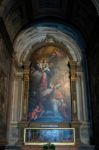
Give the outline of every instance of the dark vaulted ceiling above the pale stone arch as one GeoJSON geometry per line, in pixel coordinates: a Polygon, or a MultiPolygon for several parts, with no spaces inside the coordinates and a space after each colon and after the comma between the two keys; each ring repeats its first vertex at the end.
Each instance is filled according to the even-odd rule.
{"type": "Polygon", "coordinates": [[[86,39],[97,24],[98,13],[91,0],[2,0],[0,16],[11,41],[21,29],[38,21],[56,21],[77,27],[86,39]]]}

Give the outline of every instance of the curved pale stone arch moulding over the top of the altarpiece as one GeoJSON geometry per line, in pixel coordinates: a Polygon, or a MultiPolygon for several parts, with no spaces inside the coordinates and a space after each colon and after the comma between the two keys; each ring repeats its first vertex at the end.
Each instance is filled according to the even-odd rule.
{"type": "Polygon", "coordinates": [[[85,49],[78,45],[78,43],[81,42],[79,41],[80,35],[75,34],[76,32],[73,30],[69,31],[70,29],[64,29],[64,26],[62,26],[62,29],[58,28],[59,25],[57,25],[57,28],[38,26],[35,28],[30,27],[21,32],[14,42],[17,63],[22,65],[22,62],[27,61],[33,51],[47,44],[60,46],[61,48],[66,49],[72,60],[81,62],[83,57],[82,53],[85,49]],[[67,33],[63,33],[64,31],[66,32],[66,30],[67,33]],[[73,37],[71,36],[71,32],[73,32],[73,37]],[[78,43],[74,36],[76,36],[78,43]]]}

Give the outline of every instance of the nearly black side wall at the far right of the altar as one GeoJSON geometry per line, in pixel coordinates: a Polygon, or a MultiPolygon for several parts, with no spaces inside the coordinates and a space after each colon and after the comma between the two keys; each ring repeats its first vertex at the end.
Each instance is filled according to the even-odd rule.
{"type": "Polygon", "coordinates": [[[93,117],[94,139],[96,150],[99,149],[99,19],[89,41],[87,53],[90,77],[90,92],[93,117]]]}

